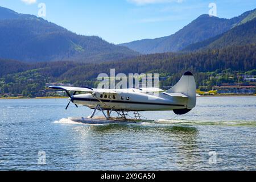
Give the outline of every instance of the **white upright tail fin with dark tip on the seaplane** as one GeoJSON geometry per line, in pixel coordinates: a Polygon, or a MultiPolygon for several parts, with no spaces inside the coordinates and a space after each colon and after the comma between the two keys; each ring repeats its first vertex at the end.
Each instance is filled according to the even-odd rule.
{"type": "MultiPolygon", "coordinates": [[[[196,106],[196,81],[191,72],[185,72],[180,78],[179,82],[171,89],[166,91],[167,93],[182,93],[187,98],[187,110],[190,111],[196,106]]],[[[175,112],[175,110],[174,110],[175,112]]]]}

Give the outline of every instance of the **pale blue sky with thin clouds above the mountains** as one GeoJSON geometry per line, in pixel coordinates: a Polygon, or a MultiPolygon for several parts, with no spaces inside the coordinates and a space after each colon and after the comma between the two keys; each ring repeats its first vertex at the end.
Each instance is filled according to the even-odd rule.
{"type": "Polygon", "coordinates": [[[217,16],[232,18],[256,8],[255,0],[0,0],[0,6],[38,15],[81,35],[97,35],[111,43],[125,43],[174,34],[216,3],[217,16]]]}

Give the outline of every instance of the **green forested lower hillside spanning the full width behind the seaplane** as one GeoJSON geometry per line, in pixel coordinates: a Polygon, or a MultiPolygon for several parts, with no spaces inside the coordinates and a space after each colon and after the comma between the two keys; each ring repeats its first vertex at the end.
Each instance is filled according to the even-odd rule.
{"type": "Polygon", "coordinates": [[[256,75],[255,50],[256,45],[250,44],[187,54],[158,53],[138,56],[126,61],[100,64],[72,61],[26,64],[0,60],[2,65],[0,80],[5,82],[2,84],[1,92],[9,93],[11,96],[52,96],[45,92],[47,82],[97,87],[98,74],[110,75],[112,68],[115,68],[116,74],[160,73],[161,77],[169,76],[167,80],[160,82],[162,88],[176,84],[182,74],[189,70],[195,74],[199,89],[210,90],[214,85],[242,81],[242,78],[237,77],[242,74],[256,75]],[[6,64],[9,66],[8,72],[3,70],[6,64]]]}

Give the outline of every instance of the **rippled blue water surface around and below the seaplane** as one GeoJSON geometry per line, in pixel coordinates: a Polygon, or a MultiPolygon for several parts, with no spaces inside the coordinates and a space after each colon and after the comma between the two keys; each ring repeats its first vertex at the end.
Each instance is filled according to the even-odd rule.
{"type": "Polygon", "coordinates": [[[63,119],[92,111],[65,111],[67,102],[0,100],[1,170],[256,169],[256,97],[200,97],[186,115],[143,112],[155,121],[96,126],[63,119]]]}

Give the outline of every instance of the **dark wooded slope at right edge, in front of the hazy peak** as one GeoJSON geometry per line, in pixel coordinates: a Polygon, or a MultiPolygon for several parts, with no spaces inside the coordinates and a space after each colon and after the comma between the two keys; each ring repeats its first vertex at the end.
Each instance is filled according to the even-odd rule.
{"type": "Polygon", "coordinates": [[[196,51],[199,49],[214,49],[246,44],[256,44],[256,18],[246,23],[241,23],[239,26],[235,26],[231,30],[217,35],[214,38],[191,44],[185,47],[183,51],[196,51]]]}

